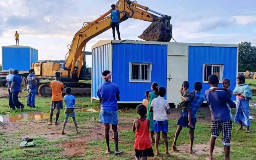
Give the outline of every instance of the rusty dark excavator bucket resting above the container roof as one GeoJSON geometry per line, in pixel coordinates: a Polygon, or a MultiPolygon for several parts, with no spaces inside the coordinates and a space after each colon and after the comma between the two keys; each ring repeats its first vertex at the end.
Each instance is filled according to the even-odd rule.
{"type": "Polygon", "coordinates": [[[170,19],[159,18],[140,35],[139,38],[145,41],[170,42],[172,39],[172,25],[170,19]]]}

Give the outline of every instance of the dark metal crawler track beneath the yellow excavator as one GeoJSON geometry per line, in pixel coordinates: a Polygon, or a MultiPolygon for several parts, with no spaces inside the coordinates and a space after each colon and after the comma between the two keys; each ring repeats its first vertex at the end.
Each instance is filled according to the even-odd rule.
{"type": "MultiPolygon", "coordinates": [[[[72,94],[91,94],[92,85],[89,83],[80,83],[80,82],[63,82],[65,88],[70,87],[72,94]]],[[[39,84],[37,92],[42,97],[52,96],[52,91],[50,90],[50,83],[39,84]]],[[[62,91],[65,93],[65,90],[62,91]]]]}

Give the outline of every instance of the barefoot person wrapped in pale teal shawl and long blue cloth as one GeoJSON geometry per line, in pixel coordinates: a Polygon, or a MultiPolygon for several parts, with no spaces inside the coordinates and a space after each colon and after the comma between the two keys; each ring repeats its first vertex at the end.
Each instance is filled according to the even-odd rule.
{"type": "Polygon", "coordinates": [[[246,126],[244,133],[250,132],[250,113],[249,113],[249,100],[252,100],[252,91],[248,84],[245,83],[243,76],[236,78],[236,88],[233,95],[237,96],[237,108],[234,121],[240,125],[237,131],[242,130],[246,126]]]}

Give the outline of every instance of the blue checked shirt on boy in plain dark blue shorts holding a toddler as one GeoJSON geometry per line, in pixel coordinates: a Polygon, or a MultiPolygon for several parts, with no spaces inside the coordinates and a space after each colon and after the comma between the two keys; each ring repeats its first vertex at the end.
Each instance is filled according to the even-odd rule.
{"type": "MultiPolygon", "coordinates": [[[[196,112],[204,102],[204,96],[200,92],[195,92],[195,97],[193,99],[191,99],[190,97],[186,98],[191,105],[191,118],[196,118],[196,112]]],[[[182,112],[184,113],[184,116],[188,116],[188,111],[182,110],[182,112]]]]}

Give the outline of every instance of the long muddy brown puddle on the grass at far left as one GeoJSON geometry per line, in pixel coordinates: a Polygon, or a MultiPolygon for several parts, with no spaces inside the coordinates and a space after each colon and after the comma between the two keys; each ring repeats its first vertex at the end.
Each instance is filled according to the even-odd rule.
{"type": "Polygon", "coordinates": [[[46,118],[49,118],[49,113],[34,112],[34,113],[23,113],[17,116],[0,115],[0,122],[16,122],[16,121],[27,120],[27,119],[40,120],[40,119],[46,119],[46,118]]]}

